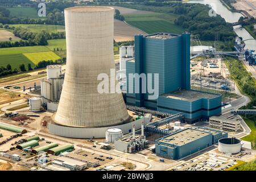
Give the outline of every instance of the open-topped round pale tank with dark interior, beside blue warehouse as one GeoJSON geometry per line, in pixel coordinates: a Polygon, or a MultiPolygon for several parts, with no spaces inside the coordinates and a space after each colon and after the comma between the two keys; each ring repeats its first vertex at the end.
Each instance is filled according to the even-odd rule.
{"type": "Polygon", "coordinates": [[[237,154],[241,151],[241,140],[236,138],[222,138],[218,140],[218,151],[225,154],[237,154]]]}

